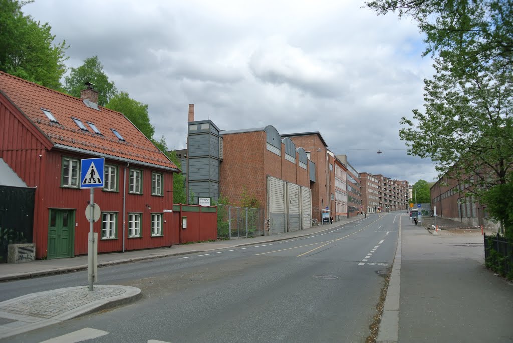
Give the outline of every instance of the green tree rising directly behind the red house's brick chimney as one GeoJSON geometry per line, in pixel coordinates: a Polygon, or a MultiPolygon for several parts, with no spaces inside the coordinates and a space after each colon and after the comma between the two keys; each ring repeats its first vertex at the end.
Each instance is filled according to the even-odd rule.
{"type": "Polygon", "coordinates": [[[80,91],[84,89],[86,82],[94,84],[94,89],[98,91],[98,105],[100,106],[105,106],[116,94],[116,86],[114,82],[109,81],[98,56],[87,57],[84,59],[83,65],[70,69],[69,76],[65,78],[65,90],[70,95],[80,97],[80,91]]]}

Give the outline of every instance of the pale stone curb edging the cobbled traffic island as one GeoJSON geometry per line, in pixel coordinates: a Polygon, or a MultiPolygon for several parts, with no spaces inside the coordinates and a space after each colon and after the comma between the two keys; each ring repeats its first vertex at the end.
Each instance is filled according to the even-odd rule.
{"type": "MultiPolygon", "coordinates": [[[[134,301],[137,301],[141,298],[142,293],[139,288],[135,287],[129,287],[129,286],[94,286],[95,288],[121,288],[125,289],[126,292],[122,295],[112,296],[108,298],[98,299],[89,302],[89,304],[82,305],[80,307],[77,307],[73,310],[70,310],[68,312],[62,313],[60,315],[57,315],[52,318],[41,318],[40,320],[37,320],[37,317],[28,317],[23,315],[16,315],[16,314],[9,314],[9,313],[3,313],[3,317],[10,317],[11,319],[15,321],[21,321],[26,323],[25,325],[21,327],[2,327],[0,326],[0,339],[4,339],[7,337],[12,337],[15,335],[19,335],[25,332],[29,332],[32,330],[44,328],[53,324],[57,324],[59,322],[62,322],[64,320],[69,320],[72,318],[80,317],[83,315],[87,315],[93,312],[103,311],[106,309],[111,309],[117,306],[121,305],[127,305],[134,301]]],[[[81,287],[71,287],[67,288],[69,290],[76,290],[76,289],[87,289],[87,286],[81,286],[81,287]]],[[[20,296],[14,299],[9,299],[6,301],[1,302],[0,304],[9,305],[14,304],[17,301],[25,301],[45,295],[51,295],[52,293],[55,293],[55,291],[62,291],[65,289],[59,289],[59,290],[53,290],[53,291],[45,291],[40,293],[33,293],[33,294],[27,294],[24,296],[20,296]]],[[[84,290],[85,292],[89,292],[88,290],[84,290]]]]}

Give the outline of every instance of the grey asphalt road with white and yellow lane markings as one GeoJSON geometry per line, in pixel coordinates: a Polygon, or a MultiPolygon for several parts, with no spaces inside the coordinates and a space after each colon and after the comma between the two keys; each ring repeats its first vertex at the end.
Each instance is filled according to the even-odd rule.
{"type": "MultiPolygon", "coordinates": [[[[137,287],[143,298],[9,341],[57,343],[78,330],[85,340],[101,330],[107,334],[89,341],[364,342],[400,214],[271,244],[102,268],[100,284],[137,287]]],[[[86,284],[85,272],[13,281],[0,285],[0,300],[86,284]]]]}

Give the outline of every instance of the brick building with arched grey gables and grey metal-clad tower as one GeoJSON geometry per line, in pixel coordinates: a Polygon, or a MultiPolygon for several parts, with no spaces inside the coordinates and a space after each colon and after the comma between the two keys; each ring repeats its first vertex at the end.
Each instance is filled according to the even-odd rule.
{"type": "Polygon", "coordinates": [[[195,120],[191,104],[187,142],[186,151],[177,154],[194,202],[223,195],[241,206],[244,198],[253,199],[269,219],[269,234],[311,227],[315,164],[274,127],[220,130],[211,120],[195,120]]]}

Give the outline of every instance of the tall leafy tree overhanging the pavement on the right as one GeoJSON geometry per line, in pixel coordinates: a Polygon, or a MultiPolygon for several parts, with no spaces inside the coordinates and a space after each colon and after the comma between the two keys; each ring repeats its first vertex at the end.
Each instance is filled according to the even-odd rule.
{"type": "MultiPolygon", "coordinates": [[[[430,157],[440,176],[449,172],[467,185],[465,193],[494,201],[513,172],[513,3],[375,0],[367,6],[411,16],[426,34],[424,54],[435,58],[436,74],[424,81],[424,113],[416,109],[413,120],[401,119],[408,153],[430,157]]],[[[513,230],[504,226],[507,214],[498,215],[513,230]]]]}

